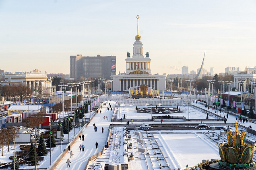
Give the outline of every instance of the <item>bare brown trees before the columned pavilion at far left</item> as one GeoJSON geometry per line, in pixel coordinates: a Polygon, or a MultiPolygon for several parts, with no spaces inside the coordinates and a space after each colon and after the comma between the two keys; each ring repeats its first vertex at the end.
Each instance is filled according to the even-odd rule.
{"type": "Polygon", "coordinates": [[[32,90],[24,84],[11,84],[0,86],[0,93],[7,100],[10,98],[15,100],[17,97],[20,97],[21,101],[23,101],[23,97],[26,98],[32,95],[32,90]]]}

